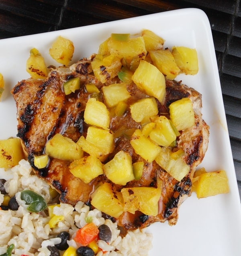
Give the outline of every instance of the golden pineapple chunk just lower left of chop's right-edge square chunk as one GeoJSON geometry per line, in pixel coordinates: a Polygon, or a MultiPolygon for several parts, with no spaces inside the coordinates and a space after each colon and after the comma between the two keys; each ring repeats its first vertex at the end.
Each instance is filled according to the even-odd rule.
{"type": "Polygon", "coordinates": [[[176,139],[169,120],[160,116],[155,119],[155,124],[155,128],[149,133],[150,139],[159,146],[168,147],[176,139]]]}

